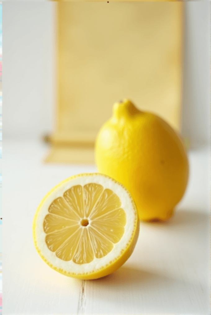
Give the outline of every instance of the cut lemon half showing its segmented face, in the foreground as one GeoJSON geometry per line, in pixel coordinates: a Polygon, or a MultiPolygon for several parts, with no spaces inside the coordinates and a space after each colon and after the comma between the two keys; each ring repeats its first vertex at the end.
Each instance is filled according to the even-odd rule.
{"type": "Polygon", "coordinates": [[[54,270],[80,279],[118,269],[132,254],[138,231],[130,193],[98,173],[62,181],[41,201],[33,221],[41,258],[54,270]]]}

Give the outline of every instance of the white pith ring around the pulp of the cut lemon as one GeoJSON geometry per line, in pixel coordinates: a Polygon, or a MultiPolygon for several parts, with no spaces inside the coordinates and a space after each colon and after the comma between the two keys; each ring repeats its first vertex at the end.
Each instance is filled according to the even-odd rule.
{"type": "MultiPolygon", "coordinates": [[[[88,218],[89,224],[91,224],[91,220],[88,218]]],[[[36,241],[38,249],[40,250],[40,254],[45,257],[45,259],[52,264],[54,267],[58,269],[62,269],[63,272],[70,273],[90,273],[95,272],[98,269],[103,268],[106,265],[110,265],[111,261],[114,261],[122,255],[122,251],[127,247],[129,241],[131,240],[135,222],[137,220],[137,214],[134,209],[134,205],[132,203],[132,199],[130,194],[126,191],[126,189],[120,184],[116,183],[114,180],[100,175],[100,174],[86,174],[79,177],[75,177],[72,179],[65,180],[61,185],[58,185],[53,189],[50,194],[44,199],[44,202],[41,203],[40,210],[37,214],[36,220],[36,241]],[[50,204],[58,197],[62,197],[63,193],[67,191],[67,189],[71,188],[75,185],[84,186],[88,183],[97,183],[104,187],[104,189],[111,189],[117,196],[119,196],[121,200],[121,208],[124,209],[126,213],[126,225],[125,225],[125,233],[123,234],[120,241],[114,244],[114,248],[109,252],[106,256],[102,258],[94,258],[93,261],[86,264],[76,264],[72,260],[71,261],[63,261],[60,258],[56,257],[55,252],[51,252],[45,242],[46,233],[43,229],[43,221],[48,212],[48,208],[50,204]]],[[[84,227],[85,228],[85,227],[84,227]]]]}

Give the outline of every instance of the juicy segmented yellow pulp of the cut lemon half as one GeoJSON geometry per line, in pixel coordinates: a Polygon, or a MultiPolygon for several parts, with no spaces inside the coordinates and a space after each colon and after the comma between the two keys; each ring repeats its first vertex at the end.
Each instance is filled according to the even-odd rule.
{"type": "Polygon", "coordinates": [[[104,257],[124,234],[126,214],[120,198],[99,184],[71,187],[48,211],[45,242],[64,261],[85,264],[104,257]]]}

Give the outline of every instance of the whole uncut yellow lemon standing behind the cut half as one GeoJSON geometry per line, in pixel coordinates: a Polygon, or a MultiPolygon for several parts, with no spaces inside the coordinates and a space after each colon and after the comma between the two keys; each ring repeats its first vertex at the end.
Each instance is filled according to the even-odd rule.
{"type": "Polygon", "coordinates": [[[98,171],[122,183],[143,221],[166,221],[185,193],[189,164],[178,133],[130,100],[115,103],[96,138],[98,171]]]}

